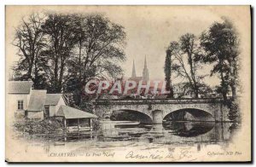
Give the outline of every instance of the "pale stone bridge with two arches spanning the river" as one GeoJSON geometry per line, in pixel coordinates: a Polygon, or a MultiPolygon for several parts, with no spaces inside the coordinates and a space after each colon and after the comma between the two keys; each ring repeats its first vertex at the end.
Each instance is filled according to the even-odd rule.
{"type": "Polygon", "coordinates": [[[114,111],[142,112],[153,120],[162,121],[170,113],[189,112],[195,119],[203,121],[229,121],[228,109],[223,100],[207,99],[101,99],[94,101],[95,113],[100,118],[110,118],[114,111]]]}

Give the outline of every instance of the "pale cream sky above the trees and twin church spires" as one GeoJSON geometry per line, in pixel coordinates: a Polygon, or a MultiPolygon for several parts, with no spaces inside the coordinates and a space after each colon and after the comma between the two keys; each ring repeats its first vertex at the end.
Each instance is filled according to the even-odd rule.
{"type": "MultiPolygon", "coordinates": [[[[150,79],[163,80],[165,77],[164,63],[166,48],[171,41],[189,32],[200,36],[201,32],[207,30],[214,21],[221,21],[222,16],[230,19],[238,19],[241,24],[240,10],[237,14],[230,15],[229,7],[184,7],[184,6],[34,6],[33,8],[19,7],[7,8],[7,44],[11,43],[14,35],[14,27],[19,24],[23,16],[33,11],[50,10],[65,13],[101,13],[109,20],[125,27],[126,60],[120,66],[123,67],[125,77],[131,77],[132,61],[135,61],[137,76],[143,74],[144,57],[147,57],[150,79]],[[14,12],[19,11],[19,12],[14,12]]],[[[242,10],[241,10],[242,12],[242,10]]],[[[236,25],[236,22],[235,22],[236,25]]],[[[11,46],[7,49],[10,56],[15,56],[15,49],[11,46]]],[[[15,60],[17,56],[13,57],[15,60]]],[[[211,66],[201,69],[201,74],[209,74],[211,66]]],[[[206,78],[206,83],[214,86],[219,83],[216,76],[206,78]]],[[[173,83],[180,82],[173,78],[173,83]]]]}

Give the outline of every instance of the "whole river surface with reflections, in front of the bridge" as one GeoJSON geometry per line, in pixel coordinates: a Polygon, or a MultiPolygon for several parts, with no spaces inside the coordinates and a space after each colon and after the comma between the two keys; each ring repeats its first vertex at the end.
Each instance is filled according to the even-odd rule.
{"type": "Polygon", "coordinates": [[[22,137],[26,137],[27,141],[44,145],[44,152],[47,153],[53,148],[61,149],[61,147],[110,148],[126,145],[149,147],[149,143],[161,147],[195,144],[197,151],[200,151],[201,146],[230,141],[230,136],[235,131],[233,127],[234,124],[215,122],[140,124],[136,121],[102,121],[101,128],[97,131],[65,135],[22,135],[22,137]]]}

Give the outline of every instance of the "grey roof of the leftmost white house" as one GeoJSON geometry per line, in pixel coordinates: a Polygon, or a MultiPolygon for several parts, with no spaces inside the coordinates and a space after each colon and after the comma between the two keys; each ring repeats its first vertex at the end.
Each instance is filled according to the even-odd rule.
{"type": "Polygon", "coordinates": [[[9,94],[29,94],[32,88],[32,81],[10,81],[9,94]]]}

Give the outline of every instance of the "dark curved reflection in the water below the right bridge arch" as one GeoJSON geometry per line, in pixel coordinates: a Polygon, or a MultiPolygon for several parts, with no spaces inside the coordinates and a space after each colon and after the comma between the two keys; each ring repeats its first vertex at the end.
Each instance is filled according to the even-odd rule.
{"type": "Polygon", "coordinates": [[[214,127],[213,122],[170,122],[163,124],[165,130],[172,130],[173,135],[193,137],[206,134],[214,127]]]}

